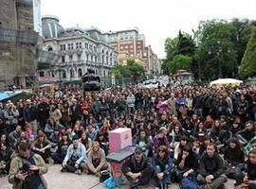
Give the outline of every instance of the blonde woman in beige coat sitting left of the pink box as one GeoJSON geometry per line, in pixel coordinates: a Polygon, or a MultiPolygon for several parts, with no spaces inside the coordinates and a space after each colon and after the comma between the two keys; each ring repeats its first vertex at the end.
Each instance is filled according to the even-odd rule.
{"type": "Polygon", "coordinates": [[[92,149],[88,154],[87,167],[88,172],[93,173],[94,175],[99,175],[101,170],[108,168],[105,152],[101,149],[100,144],[97,141],[92,143],[92,149]]]}

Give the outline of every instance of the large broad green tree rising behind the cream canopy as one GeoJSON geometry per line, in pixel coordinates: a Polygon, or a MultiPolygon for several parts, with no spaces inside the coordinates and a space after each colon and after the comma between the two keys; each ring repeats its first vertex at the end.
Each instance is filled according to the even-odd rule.
{"type": "Polygon", "coordinates": [[[203,79],[233,77],[237,57],[234,26],[225,20],[211,20],[200,22],[199,27],[198,56],[203,79]]]}

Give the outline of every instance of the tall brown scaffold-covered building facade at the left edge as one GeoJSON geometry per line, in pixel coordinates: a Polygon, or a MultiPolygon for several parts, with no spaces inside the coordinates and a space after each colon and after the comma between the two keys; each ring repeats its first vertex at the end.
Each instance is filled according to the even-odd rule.
{"type": "Polygon", "coordinates": [[[0,0],[0,90],[30,87],[37,69],[32,0],[0,0]]]}

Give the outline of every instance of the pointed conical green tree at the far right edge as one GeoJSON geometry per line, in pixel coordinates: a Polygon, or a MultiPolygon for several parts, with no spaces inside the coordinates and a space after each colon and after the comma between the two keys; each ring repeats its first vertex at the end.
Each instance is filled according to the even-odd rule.
{"type": "Polygon", "coordinates": [[[256,76],[256,27],[252,29],[249,41],[247,43],[247,50],[242,60],[239,74],[242,78],[256,76]]]}

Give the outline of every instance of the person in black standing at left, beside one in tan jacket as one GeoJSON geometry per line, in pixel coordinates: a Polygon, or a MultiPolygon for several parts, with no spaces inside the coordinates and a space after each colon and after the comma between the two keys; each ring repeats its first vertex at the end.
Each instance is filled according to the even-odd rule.
{"type": "Polygon", "coordinates": [[[47,122],[47,119],[49,118],[49,110],[50,110],[50,107],[46,102],[46,98],[42,98],[40,100],[40,103],[37,106],[38,122],[41,129],[46,128],[46,122],[47,122]]]}

